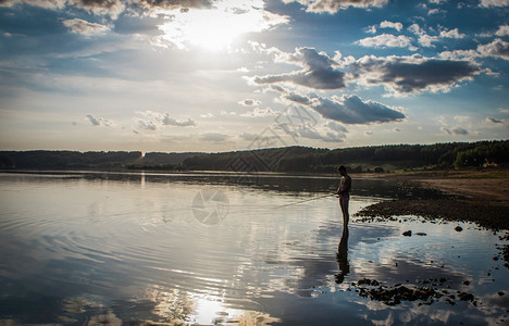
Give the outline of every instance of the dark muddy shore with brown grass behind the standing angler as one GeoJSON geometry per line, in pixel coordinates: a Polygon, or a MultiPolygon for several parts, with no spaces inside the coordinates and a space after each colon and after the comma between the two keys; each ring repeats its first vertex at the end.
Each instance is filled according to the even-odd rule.
{"type": "Polygon", "coordinates": [[[509,230],[509,171],[432,172],[420,174],[358,175],[401,180],[457,195],[455,199],[401,199],[362,209],[361,217],[389,218],[418,215],[425,218],[473,222],[493,230],[509,230]]]}

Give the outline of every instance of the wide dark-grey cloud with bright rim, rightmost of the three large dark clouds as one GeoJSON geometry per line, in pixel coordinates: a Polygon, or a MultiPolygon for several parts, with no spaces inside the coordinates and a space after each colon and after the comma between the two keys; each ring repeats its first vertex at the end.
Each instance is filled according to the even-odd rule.
{"type": "Polygon", "coordinates": [[[384,85],[395,95],[423,90],[448,91],[450,87],[481,73],[473,62],[411,57],[363,57],[352,64],[359,83],[384,85]]]}

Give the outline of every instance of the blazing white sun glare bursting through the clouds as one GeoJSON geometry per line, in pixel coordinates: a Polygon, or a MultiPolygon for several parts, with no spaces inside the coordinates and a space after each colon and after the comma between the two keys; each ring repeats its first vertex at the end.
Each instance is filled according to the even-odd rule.
{"type": "Polygon", "coordinates": [[[162,38],[179,49],[198,47],[209,51],[227,49],[247,33],[259,33],[286,23],[287,17],[263,10],[263,1],[220,1],[210,9],[167,13],[159,26],[162,38]]]}

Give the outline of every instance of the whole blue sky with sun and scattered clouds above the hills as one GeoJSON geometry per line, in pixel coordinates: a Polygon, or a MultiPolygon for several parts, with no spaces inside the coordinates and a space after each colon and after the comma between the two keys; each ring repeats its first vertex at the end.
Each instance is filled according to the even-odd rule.
{"type": "Polygon", "coordinates": [[[509,138],[509,0],[0,0],[0,150],[509,138]]]}

